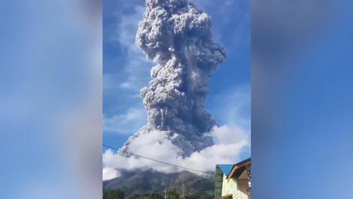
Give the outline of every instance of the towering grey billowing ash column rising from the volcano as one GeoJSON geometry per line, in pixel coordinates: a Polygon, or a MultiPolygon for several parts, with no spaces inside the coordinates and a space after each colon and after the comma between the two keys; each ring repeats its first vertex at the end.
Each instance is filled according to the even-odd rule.
{"type": "Polygon", "coordinates": [[[186,157],[213,145],[206,134],[215,121],[204,110],[207,81],[225,58],[212,41],[210,16],[187,0],[147,0],[136,44],[156,62],[149,86],[141,89],[148,124],[129,138],[159,131],[186,157]]]}

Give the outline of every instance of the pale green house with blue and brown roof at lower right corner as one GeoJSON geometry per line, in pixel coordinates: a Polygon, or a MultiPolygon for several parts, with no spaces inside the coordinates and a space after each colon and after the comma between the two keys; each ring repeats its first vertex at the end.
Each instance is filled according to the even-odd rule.
{"type": "Polygon", "coordinates": [[[251,199],[251,158],[237,164],[217,164],[216,199],[251,199]]]}

